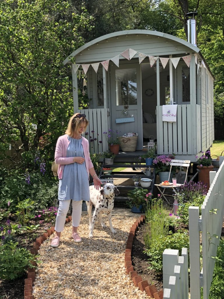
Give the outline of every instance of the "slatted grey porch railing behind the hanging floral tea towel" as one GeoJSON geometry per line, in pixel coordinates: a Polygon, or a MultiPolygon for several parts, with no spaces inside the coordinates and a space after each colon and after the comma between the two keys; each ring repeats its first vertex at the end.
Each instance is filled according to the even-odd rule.
{"type": "Polygon", "coordinates": [[[162,121],[162,106],[157,106],[157,148],[159,155],[173,152],[178,155],[197,155],[200,148],[200,106],[178,105],[177,121],[168,123],[162,121]],[[192,110],[196,110],[196,127],[191,121],[192,110]],[[192,136],[197,136],[193,144],[192,136]]]}

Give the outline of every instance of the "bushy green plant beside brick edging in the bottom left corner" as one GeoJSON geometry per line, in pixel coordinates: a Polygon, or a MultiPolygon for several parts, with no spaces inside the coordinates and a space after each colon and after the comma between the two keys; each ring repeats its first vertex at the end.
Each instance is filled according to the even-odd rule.
{"type": "Polygon", "coordinates": [[[33,268],[31,262],[35,256],[25,248],[19,248],[18,242],[12,241],[0,245],[0,278],[13,280],[23,275],[27,267],[33,268]]]}

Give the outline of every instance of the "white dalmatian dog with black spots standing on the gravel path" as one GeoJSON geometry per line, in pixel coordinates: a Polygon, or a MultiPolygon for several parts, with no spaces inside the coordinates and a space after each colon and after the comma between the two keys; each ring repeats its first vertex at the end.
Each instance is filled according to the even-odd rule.
{"type": "Polygon", "coordinates": [[[98,215],[102,228],[106,227],[106,225],[102,221],[102,213],[107,213],[111,232],[115,234],[116,231],[113,229],[111,222],[111,211],[113,209],[114,197],[115,195],[117,196],[120,193],[119,190],[113,184],[110,183],[105,184],[100,190],[95,189],[94,186],[90,186],[89,188],[90,201],[86,202],[89,214],[89,238],[93,238],[94,224],[98,215]],[[91,211],[93,205],[95,206],[95,210],[92,219],[91,211]]]}

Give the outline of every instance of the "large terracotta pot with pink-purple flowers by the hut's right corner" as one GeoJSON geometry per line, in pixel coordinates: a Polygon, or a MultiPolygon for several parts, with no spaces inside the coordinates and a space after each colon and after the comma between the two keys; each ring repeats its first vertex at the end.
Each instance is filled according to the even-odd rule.
{"type": "Polygon", "coordinates": [[[210,187],[210,181],[209,181],[209,172],[213,170],[214,166],[211,165],[212,158],[210,155],[210,151],[206,151],[205,153],[202,152],[202,155],[200,157],[195,156],[195,158],[199,158],[197,169],[198,172],[198,180],[204,182],[207,184],[207,191],[210,187]]]}

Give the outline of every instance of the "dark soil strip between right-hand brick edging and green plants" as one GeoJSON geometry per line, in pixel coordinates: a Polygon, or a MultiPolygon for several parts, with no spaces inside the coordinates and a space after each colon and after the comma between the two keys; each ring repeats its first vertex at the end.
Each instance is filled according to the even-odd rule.
{"type": "Polygon", "coordinates": [[[148,269],[148,267],[151,266],[148,262],[148,255],[143,253],[143,251],[146,249],[144,242],[145,233],[146,225],[144,223],[143,225],[139,226],[136,237],[133,241],[131,253],[132,264],[137,274],[142,276],[142,280],[148,280],[149,285],[153,284],[156,286],[157,290],[162,290],[162,274],[157,275],[153,269],[148,269]]]}

